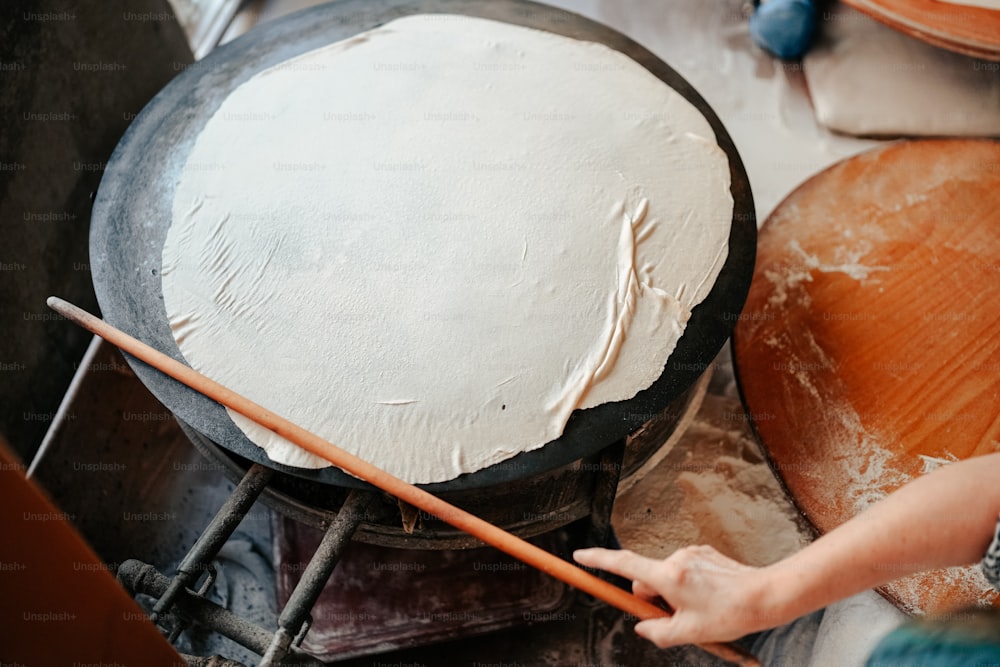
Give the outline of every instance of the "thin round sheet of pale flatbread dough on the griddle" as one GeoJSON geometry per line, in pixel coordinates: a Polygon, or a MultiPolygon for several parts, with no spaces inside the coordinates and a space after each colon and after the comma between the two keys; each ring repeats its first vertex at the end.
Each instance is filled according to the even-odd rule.
{"type": "MultiPolygon", "coordinates": [[[[438,482],[648,387],[731,219],[707,121],[634,61],[418,15],[229,95],[177,185],[163,297],[192,367],[438,482]]],[[[230,414],[272,460],[329,465],[230,414]]]]}

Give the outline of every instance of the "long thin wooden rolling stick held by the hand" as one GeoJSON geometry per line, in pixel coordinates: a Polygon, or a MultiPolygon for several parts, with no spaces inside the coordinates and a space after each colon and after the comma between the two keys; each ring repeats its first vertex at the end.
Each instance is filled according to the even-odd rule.
{"type": "MultiPolygon", "coordinates": [[[[182,382],[195,391],[239,412],[306,451],[326,459],[338,468],[365,480],[373,486],[377,486],[386,493],[390,493],[414,507],[424,510],[428,514],[438,517],[442,521],[465,531],[473,537],[479,538],[500,551],[637,618],[651,619],[670,615],[667,611],[646,600],[638,598],[614,584],[600,579],[586,570],[564,561],[558,556],[554,556],[544,549],[526,542],[459,507],[455,507],[437,496],[323,440],[318,435],[310,433],[284,417],[271,412],[231,389],[227,389],[190,366],[133,338],[87,311],[55,296],[49,297],[47,303],[49,308],[71,322],[100,336],[122,351],[146,362],[153,368],[182,382]]],[[[723,660],[728,660],[739,665],[759,667],[760,664],[752,655],[731,644],[699,644],[699,647],[723,660]]]]}

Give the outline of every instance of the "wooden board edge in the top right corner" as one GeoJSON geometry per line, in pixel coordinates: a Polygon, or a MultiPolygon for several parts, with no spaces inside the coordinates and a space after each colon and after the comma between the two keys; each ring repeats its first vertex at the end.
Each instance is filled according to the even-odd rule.
{"type": "Polygon", "coordinates": [[[873,19],[929,44],[1000,60],[1000,11],[941,0],[845,0],[873,19]]]}

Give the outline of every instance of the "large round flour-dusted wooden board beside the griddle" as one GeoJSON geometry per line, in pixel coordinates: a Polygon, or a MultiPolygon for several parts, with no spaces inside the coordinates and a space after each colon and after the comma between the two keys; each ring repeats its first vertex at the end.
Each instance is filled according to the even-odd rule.
{"type": "MultiPolygon", "coordinates": [[[[890,144],[764,224],[734,334],[750,418],[820,532],[944,461],[1000,451],[1000,142],[890,144]]],[[[884,593],[998,604],[978,568],[884,593]]]]}

